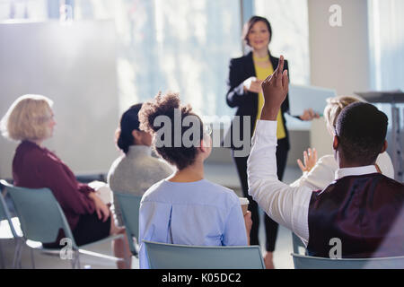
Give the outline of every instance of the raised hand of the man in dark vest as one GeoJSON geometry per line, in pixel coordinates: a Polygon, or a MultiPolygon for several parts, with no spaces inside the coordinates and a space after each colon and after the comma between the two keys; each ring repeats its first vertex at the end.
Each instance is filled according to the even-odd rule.
{"type": "Polygon", "coordinates": [[[284,65],[285,58],[281,56],[274,74],[268,76],[261,85],[265,99],[261,119],[277,120],[279,109],[286,99],[289,90],[289,77],[287,71],[284,71],[284,65]]]}

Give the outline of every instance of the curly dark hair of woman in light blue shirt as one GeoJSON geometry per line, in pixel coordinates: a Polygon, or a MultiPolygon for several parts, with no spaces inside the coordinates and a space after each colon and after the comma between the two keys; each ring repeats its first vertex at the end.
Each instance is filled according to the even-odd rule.
{"type": "MultiPolygon", "coordinates": [[[[180,97],[176,93],[167,93],[164,95],[159,93],[154,100],[145,102],[139,112],[140,128],[151,133],[152,135],[155,135],[155,133],[162,128],[161,126],[154,126],[154,120],[156,117],[169,117],[171,124],[171,143],[168,144],[168,146],[156,144],[156,141],[159,139],[154,137],[154,151],[165,161],[174,164],[179,170],[183,170],[194,163],[198,150],[195,145],[187,147],[184,145],[184,143],[182,143],[182,136],[189,129],[189,126],[183,126],[182,123],[180,124],[180,144],[175,143],[175,109],[180,110],[181,119],[188,116],[196,117],[198,122],[197,127],[200,128],[200,137],[195,139],[192,138],[191,140],[196,140],[198,143],[200,143],[203,138],[202,120],[192,111],[192,108],[189,105],[180,105],[180,97]]],[[[191,126],[193,125],[194,124],[191,126]]],[[[163,138],[161,140],[164,141],[163,138]]]]}

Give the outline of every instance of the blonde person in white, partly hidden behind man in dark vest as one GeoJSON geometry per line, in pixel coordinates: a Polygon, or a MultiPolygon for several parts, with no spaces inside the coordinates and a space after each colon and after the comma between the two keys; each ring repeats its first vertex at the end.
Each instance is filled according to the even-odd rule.
{"type": "MultiPolygon", "coordinates": [[[[334,131],[337,128],[337,118],[341,110],[348,105],[360,101],[355,97],[335,97],[327,100],[328,105],[324,109],[324,118],[327,124],[329,135],[334,137],[334,131]]],[[[304,164],[298,160],[300,169],[303,171],[303,176],[291,187],[310,187],[312,190],[322,190],[328,187],[335,179],[335,172],[338,170],[338,163],[333,154],[328,154],[317,161],[317,152],[315,149],[309,149],[303,154],[304,164]]],[[[387,152],[382,152],[378,155],[375,163],[376,169],[388,178],[394,179],[394,168],[391,163],[391,158],[387,152]]]]}

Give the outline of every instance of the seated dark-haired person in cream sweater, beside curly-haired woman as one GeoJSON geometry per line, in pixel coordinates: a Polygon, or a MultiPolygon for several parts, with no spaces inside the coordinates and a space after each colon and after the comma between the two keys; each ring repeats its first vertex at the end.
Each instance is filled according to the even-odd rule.
{"type": "MultiPolygon", "coordinates": [[[[113,192],[143,196],[149,187],[173,172],[166,162],[152,156],[152,135],[139,129],[140,108],[142,104],[130,107],[120,119],[117,145],[123,154],[112,163],[108,173],[113,192]]],[[[113,199],[113,212],[122,226],[119,203],[116,196],[113,199]]]]}

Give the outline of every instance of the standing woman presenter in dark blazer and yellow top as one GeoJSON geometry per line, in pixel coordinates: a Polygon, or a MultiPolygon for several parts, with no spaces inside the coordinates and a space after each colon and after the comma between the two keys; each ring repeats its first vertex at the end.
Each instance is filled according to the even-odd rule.
{"type": "MultiPolygon", "coordinates": [[[[226,101],[229,107],[237,108],[236,116],[241,117],[240,136],[253,135],[257,118],[260,118],[260,112],[264,105],[264,97],[261,90],[261,83],[268,75],[274,73],[274,67],[277,67],[279,58],[273,57],[268,49],[272,39],[271,25],[266,18],[253,16],[249,22],[244,25],[242,39],[251,49],[250,53],[244,57],[233,58],[229,65],[229,77],[227,80],[226,101]],[[243,135],[243,126],[245,123],[243,117],[250,117],[250,135],[243,135]]],[[[285,70],[288,70],[288,63],[285,61],[285,70]]],[[[277,177],[282,180],[285,172],[287,152],[290,149],[288,131],[285,126],[285,113],[289,112],[289,100],[282,104],[281,110],[277,115],[277,177]]],[[[305,110],[299,118],[302,120],[312,120],[318,117],[312,109],[305,110]]],[[[248,123],[248,121],[246,122],[248,123]]],[[[233,125],[229,133],[234,132],[233,125]]],[[[231,148],[233,150],[233,161],[242,184],[244,196],[250,200],[249,210],[251,212],[252,228],[250,232],[250,245],[259,245],[259,208],[258,204],[252,200],[248,193],[247,182],[247,156],[237,156],[237,147],[233,144],[233,135],[231,137],[231,148]]],[[[277,240],[277,222],[271,220],[264,214],[266,230],[266,249],[267,253],[264,262],[267,268],[274,268],[273,252],[277,240]]]]}

